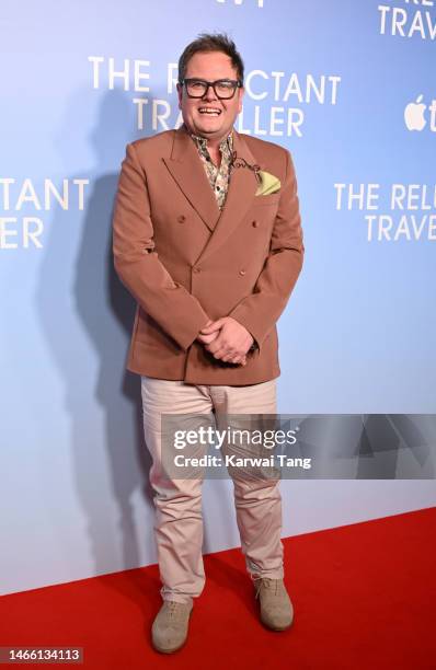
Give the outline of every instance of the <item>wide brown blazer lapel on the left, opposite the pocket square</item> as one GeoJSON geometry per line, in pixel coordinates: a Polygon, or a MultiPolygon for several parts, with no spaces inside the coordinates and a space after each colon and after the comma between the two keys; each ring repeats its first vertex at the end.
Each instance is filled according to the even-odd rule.
{"type": "Polygon", "coordinates": [[[175,131],[171,158],[163,158],[163,162],[191,205],[213,231],[220,210],[197,148],[184,126],[175,131]]]}

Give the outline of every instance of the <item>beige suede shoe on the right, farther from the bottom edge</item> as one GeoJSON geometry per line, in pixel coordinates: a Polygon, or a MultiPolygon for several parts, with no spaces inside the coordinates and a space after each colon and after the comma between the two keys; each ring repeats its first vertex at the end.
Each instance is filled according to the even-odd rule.
{"type": "Polygon", "coordinates": [[[289,628],[294,608],[283,579],[259,577],[254,579],[255,597],[261,603],[261,621],[272,631],[289,628]]]}

